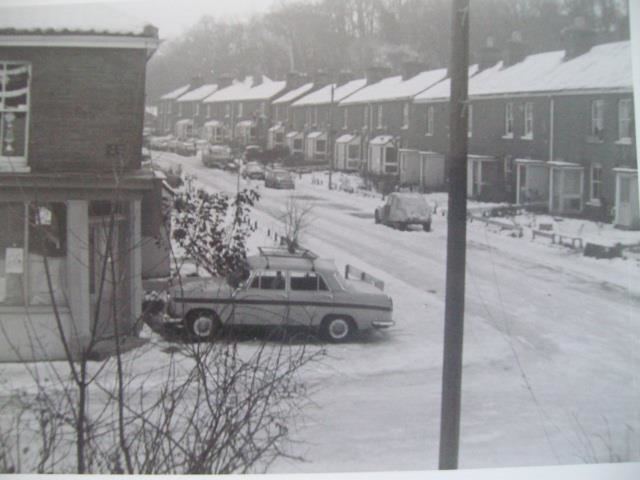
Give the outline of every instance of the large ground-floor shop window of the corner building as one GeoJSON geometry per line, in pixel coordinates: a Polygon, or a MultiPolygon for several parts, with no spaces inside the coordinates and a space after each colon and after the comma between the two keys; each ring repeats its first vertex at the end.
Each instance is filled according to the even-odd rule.
{"type": "Polygon", "coordinates": [[[64,203],[0,204],[0,306],[66,304],[66,213],[64,203]]]}

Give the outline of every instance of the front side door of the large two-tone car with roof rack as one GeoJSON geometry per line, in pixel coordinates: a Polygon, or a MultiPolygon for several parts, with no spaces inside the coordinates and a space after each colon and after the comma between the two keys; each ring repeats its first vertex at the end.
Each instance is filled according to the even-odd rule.
{"type": "Polygon", "coordinates": [[[258,270],[234,296],[235,325],[282,325],[287,320],[286,272],[258,270]]]}

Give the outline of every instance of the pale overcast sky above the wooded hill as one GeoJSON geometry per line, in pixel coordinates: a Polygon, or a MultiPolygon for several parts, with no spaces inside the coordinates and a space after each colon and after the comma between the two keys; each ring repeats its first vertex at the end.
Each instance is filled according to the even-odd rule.
{"type": "Polygon", "coordinates": [[[240,20],[267,11],[282,0],[0,0],[0,5],[51,5],[61,3],[111,3],[160,30],[170,38],[193,25],[203,15],[240,20]]]}

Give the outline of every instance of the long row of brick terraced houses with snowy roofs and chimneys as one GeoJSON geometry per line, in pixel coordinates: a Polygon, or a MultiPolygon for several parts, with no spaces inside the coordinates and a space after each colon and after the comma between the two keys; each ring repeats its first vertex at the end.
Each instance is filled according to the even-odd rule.
{"type": "MultiPolygon", "coordinates": [[[[527,54],[514,35],[469,68],[468,194],[640,228],[631,48],[595,45],[579,23],[564,50],[527,54]]],[[[449,144],[446,69],[406,63],[330,83],[290,74],[221,79],[165,95],[165,132],[329,162],[377,180],[444,189],[449,144]],[[226,83],[225,83],[226,82],[226,83]]]]}

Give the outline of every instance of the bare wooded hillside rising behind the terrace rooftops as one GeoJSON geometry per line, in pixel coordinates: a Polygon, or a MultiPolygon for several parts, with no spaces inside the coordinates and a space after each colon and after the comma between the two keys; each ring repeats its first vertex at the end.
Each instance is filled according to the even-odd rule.
{"type": "MultiPolygon", "coordinates": [[[[471,59],[487,37],[503,46],[519,31],[530,53],[562,49],[562,31],[584,17],[598,41],[629,38],[628,0],[472,0],[471,59]]],[[[203,16],[163,45],[149,63],[149,101],[194,76],[289,71],[361,75],[371,65],[397,71],[404,61],[429,68],[449,59],[450,0],[282,0],[248,20],[203,16]]]]}

